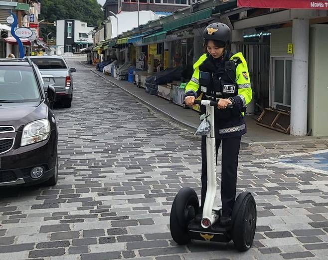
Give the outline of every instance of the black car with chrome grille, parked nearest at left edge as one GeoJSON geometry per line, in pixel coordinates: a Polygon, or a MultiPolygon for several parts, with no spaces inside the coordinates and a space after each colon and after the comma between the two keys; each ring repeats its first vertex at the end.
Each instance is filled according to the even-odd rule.
{"type": "Polygon", "coordinates": [[[0,186],[57,183],[56,94],[46,92],[31,60],[0,59],[0,186]]]}

